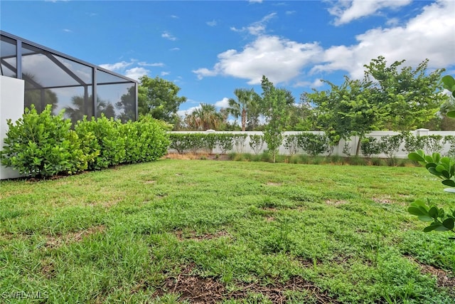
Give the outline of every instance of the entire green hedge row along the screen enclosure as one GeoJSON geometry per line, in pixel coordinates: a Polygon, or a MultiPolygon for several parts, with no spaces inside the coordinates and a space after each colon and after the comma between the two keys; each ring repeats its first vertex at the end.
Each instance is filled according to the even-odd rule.
{"type": "Polygon", "coordinates": [[[164,126],[151,117],[124,124],[105,116],[92,117],[73,126],[63,115],[63,111],[52,115],[50,105],[38,114],[32,105],[15,123],[8,120],[1,163],[25,176],[52,177],[150,162],[167,152],[164,126]]]}

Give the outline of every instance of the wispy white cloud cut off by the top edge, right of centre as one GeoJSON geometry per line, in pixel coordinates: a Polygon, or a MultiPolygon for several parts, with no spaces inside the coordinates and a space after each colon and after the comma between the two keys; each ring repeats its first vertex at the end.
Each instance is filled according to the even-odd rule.
{"type": "Polygon", "coordinates": [[[412,0],[342,0],[336,2],[335,6],[329,9],[328,12],[337,17],[335,24],[341,25],[375,14],[380,9],[397,9],[411,2],[412,0]]]}

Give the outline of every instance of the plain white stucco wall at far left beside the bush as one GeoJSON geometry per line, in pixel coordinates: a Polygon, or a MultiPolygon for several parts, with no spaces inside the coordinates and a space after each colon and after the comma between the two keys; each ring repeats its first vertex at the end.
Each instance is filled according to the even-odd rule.
{"type": "MultiPolygon", "coordinates": [[[[4,146],[4,138],[8,131],[6,120],[16,121],[23,114],[24,83],[21,79],[0,75],[0,150],[4,146]]],[[[0,164],[0,179],[20,177],[20,174],[0,164]]]]}

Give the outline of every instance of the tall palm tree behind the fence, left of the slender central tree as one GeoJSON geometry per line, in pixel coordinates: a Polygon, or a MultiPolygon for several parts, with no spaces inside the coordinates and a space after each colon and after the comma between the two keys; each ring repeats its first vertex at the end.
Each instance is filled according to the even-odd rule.
{"type": "Polygon", "coordinates": [[[237,97],[237,100],[235,100],[234,98],[230,98],[228,100],[229,102],[228,111],[230,112],[230,114],[234,115],[236,119],[239,116],[241,117],[242,131],[245,131],[247,127],[248,112],[255,108],[255,102],[259,95],[255,93],[254,89],[247,90],[238,88],[234,90],[234,95],[237,97]]]}

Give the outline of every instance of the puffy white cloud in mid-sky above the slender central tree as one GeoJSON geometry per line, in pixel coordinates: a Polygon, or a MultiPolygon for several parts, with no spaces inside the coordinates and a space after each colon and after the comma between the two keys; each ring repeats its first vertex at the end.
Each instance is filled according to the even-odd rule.
{"type": "Polygon", "coordinates": [[[254,85],[267,75],[270,81],[287,82],[299,75],[301,68],[313,63],[322,52],[317,43],[297,43],[277,36],[259,36],[242,51],[228,50],[218,55],[212,70],[193,70],[199,79],[215,75],[245,78],[254,85]]]}

